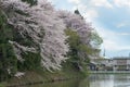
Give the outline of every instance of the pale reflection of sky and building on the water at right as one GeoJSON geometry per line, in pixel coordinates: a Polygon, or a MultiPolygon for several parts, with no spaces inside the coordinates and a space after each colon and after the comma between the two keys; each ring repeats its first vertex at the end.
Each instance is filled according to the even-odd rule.
{"type": "Polygon", "coordinates": [[[130,87],[130,74],[95,74],[82,83],[84,82],[89,82],[89,86],[86,87],[130,87]]]}

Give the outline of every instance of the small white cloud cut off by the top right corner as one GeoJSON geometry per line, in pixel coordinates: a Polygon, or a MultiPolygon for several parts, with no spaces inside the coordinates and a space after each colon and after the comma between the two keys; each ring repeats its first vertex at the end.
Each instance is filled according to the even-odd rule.
{"type": "Polygon", "coordinates": [[[130,8],[130,0],[114,0],[114,4],[118,8],[121,8],[121,7],[130,8]]]}

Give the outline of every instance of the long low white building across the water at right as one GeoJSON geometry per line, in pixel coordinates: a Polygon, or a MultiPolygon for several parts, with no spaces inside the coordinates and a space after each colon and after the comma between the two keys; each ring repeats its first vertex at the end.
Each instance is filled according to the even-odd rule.
{"type": "Polygon", "coordinates": [[[130,71],[130,58],[92,59],[99,71],[130,71]]]}

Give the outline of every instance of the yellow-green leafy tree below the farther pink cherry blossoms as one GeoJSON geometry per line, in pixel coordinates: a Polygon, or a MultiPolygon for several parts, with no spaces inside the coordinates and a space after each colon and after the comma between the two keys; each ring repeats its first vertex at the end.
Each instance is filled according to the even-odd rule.
{"type": "Polygon", "coordinates": [[[91,49],[88,49],[88,47],[80,41],[77,32],[66,29],[65,33],[68,36],[66,41],[69,45],[69,51],[67,53],[69,62],[72,62],[78,70],[84,71],[86,67],[83,66],[89,63],[88,52],[91,49]]]}

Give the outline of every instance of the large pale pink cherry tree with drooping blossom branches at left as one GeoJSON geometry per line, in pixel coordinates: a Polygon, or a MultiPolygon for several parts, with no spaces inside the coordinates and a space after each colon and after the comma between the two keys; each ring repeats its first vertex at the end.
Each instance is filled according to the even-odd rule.
{"type": "Polygon", "coordinates": [[[65,24],[57,16],[53,7],[47,0],[38,0],[37,5],[30,7],[21,0],[1,0],[8,23],[14,27],[22,38],[30,38],[32,46],[25,46],[16,40],[10,40],[15,55],[24,61],[22,52],[40,52],[43,67],[60,70],[68,46],[65,45],[65,24]]]}

